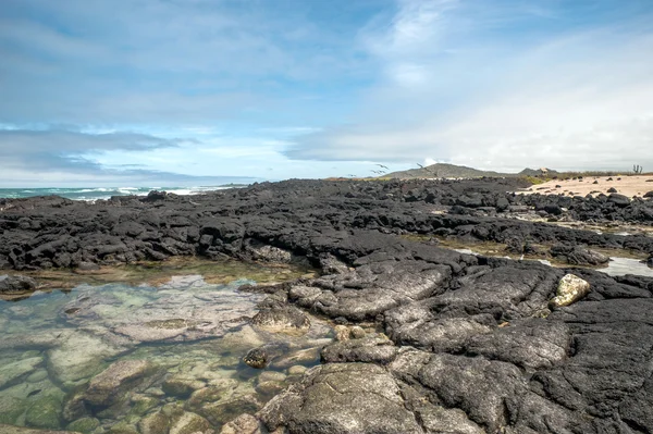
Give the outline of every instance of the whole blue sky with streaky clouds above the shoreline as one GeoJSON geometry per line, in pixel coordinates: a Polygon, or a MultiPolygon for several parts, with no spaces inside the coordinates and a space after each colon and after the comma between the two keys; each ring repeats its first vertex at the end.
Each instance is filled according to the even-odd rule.
{"type": "Polygon", "coordinates": [[[653,171],[651,0],[2,0],[0,187],[653,171]]]}

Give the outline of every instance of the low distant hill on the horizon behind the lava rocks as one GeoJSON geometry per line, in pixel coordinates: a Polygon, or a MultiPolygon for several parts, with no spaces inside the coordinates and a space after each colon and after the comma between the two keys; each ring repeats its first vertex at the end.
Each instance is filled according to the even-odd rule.
{"type": "Polygon", "coordinates": [[[513,177],[513,176],[539,176],[543,174],[557,174],[550,169],[525,169],[519,173],[501,173],[493,171],[480,171],[465,165],[435,163],[424,168],[410,169],[407,171],[392,172],[382,177],[398,179],[430,178],[430,177],[513,177]]]}

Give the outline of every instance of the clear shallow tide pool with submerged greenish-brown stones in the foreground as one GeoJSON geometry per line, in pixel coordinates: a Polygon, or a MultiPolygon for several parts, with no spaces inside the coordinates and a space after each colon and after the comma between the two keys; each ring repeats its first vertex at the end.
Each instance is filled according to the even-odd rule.
{"type": "Polygon", "coordinates": [[[192,422],[219,432],[256,411],[319,362],[332,331],[315,319],[301,336],[255,330],[247,318],[264,296],[237,292],[245,283],[254,282],[184,275],[158,286],[82,284],[0,301],[0,423],[100,434],[192,422]],[[242,358],[261,345],[270,365],[246,367],[242,358]],[[89,382],[116,362],[147,369],[97,404],[89,382]]]}

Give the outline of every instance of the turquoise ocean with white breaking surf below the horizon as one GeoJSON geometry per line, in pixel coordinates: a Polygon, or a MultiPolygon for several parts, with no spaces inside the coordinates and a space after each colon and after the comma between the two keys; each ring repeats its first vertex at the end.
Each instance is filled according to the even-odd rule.
{"type": "Polygon", "coordinates": [[[223,184],[197,187],[97,187],[97,188],[0,188],[0,198],[26,198],[34,196],[61,196],[72,200],[109,199],[111,196],[147,196],[151,190],[163,190],[175,195],[199,195],[206,191],[244,187],[247,184],[223,184]]]}

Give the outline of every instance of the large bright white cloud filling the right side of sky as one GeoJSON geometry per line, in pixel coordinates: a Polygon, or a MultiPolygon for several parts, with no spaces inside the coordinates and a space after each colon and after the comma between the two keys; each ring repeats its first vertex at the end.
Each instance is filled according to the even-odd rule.
{"type": "MultiPolygon", "coordinates": [[[[489,24],[454,2],[401,5],[371,48],[393,79],[370,90],[352,125],[299,137],[288,156],[436,159],[514,171],[653,169],[650,27],[615,23],[523,41],[482,38],[475,25],[519,17],[496,12],[489,24]],[[466,22],[467,28],[455,25],[466,22]]],[[[525,13],[555,16],[535,12],[525,13]]]]}

